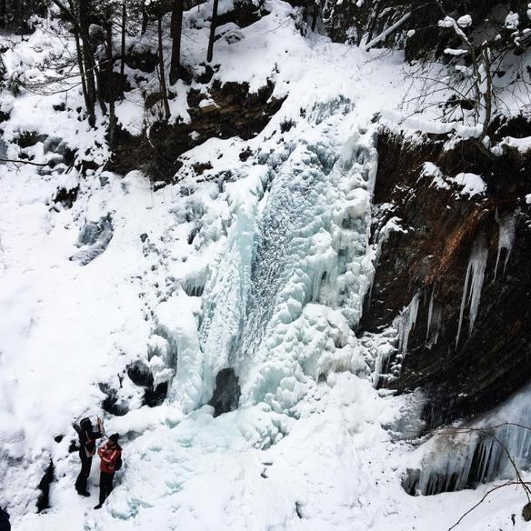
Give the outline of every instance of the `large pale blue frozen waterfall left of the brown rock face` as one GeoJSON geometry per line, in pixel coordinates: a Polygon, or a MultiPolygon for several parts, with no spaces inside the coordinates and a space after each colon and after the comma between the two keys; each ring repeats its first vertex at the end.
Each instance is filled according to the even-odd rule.
{"type": "MultiPolygon", "coordinates": [[[[267,399],[281,410],[296,403],[306,376],[365,369],[352,329],[374,271],[376,149],[374,130],[359,132],[355,117],[343,98],[315,105],[283,148],[260,156],[255,175],[233,183],[254,199],[232,200],[225,253],[203,296],[202,389],[188,403],[205,403],[227,366],[243,404],[267,399]]],[[[177,362],[183,382],[179,372],[177,362]]]]}

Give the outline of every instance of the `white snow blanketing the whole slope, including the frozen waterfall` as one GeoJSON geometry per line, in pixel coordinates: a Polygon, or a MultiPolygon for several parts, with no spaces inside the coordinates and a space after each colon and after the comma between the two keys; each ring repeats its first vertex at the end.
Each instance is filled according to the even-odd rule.
{"type": "MultiPolygon", "coordinates": [[[[216,43],[216,76],[251,89],[270,78],[286,101],[254,139],[211,139],[186,154],[183,175],[213,166],[201,182],[155,192],[138,172],[0,165],[0,506],[17,531],[443,531],[489,488],[406,494],[402,478],[422,452],[396,437],[416,425],[416,400],[376,392],[377,353],[352,331],[376,254],[373,117],[396,112],[403,58],[303,37],[290,6],[267,8],[240,41],[216,43]],[[72,208],[53,204],[58,188],[75,186],[72,208]],[[142,406],[125,375],[133,362],[168,382],[162,406],[142,406]],[[226,367],[240,407],[214,417],[205,404],[226,367]],[[93,496],[80,498],[68,446],[72,423],[101,415],[109,388],[128,410],[105,416],[107,433],[122,434],[125,466],[95,512],[97,463],[93,496]],[[37,515],[50,459],[51,508],[37,515]]],[[[205,55],[208,9],[186,14],[198,28],[185,30],[189,64],[205,55]]],[[[15,48],[13,71],[55,50],[39,31],[15,48]]],[[[63,97],[5,99],[5,139],[37,131],[104,160],[102,128],[55,112],[63,97]]],[[[144,116],[135,92],[127,97],[117,115],[134,129],[144,116]]],[[[179,96],[173,112],[186,119],[183,105],[179,96]]],[[[45,151],[26,148],[37,162],[45,151]]],[[[525,502],[515,486],[501,489],[460,528],[524,529],[525,502]]]]}

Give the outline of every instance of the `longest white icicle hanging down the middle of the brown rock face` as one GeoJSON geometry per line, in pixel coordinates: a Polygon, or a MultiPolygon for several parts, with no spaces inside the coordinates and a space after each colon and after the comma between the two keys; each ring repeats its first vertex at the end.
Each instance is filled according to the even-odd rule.
{"type": "Polygon", "coordinates": [[[468,313],[468,335],[472,334],[474,323],[476,322],[477,310],[481,299],[481,290],[485,280],[486,259],[488,248],[486,247],[486,236],[479,234],[472,247],[472,253],[466,268],[465,286],[463,287],[463,298],[461,299],[461,309],[459,311],[459,325],[457,326],[456,348],[459,345],[459,336],[463,326],[463,316],[466,304],[469,305],[468,313]],[[470,291],[468,291],[470,290],[470,291]],[[468,295],[468,298],[466,297],[468,295]]]}

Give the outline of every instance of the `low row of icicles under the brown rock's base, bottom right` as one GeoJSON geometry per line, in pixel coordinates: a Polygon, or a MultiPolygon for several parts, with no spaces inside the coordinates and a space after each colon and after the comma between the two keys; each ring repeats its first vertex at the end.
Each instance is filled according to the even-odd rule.
{"type": "Polygon", "coordinates": [[[530,415],[528,386],[494,412],[470,425],[456,426],[473,431],[453,433],[448,428],[447,435],[434,436],[416,450],[416,455],[422,454],[421,466],[409,470],[406,491],[431,496],[516,477],[507,453],[519,469],[531,466],[531,430],[524,427],[530,415]]]}

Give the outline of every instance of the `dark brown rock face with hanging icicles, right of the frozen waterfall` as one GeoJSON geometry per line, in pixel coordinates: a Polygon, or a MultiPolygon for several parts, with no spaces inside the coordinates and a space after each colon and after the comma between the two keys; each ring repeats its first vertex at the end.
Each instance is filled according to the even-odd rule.
{"type": "Polygon", "coordinates": [[[382,381],[426,391],[433,427],[496,406],[531,379],[531,165],[515,154],[486,159],[472,143],[443,152],[436,139],[408,145],[389,133],[378,153],[375,203],[383,214],[374,237],[394,216],[404,232],[382,245],[361,327],[392,325],[417,296],[406,353],[390,360],[395,372],[382,381]],[[458,185],[433,185],[422,175],[426,161],[451,177],[482,175],[486,193],[471,199],[458,185]]]}

